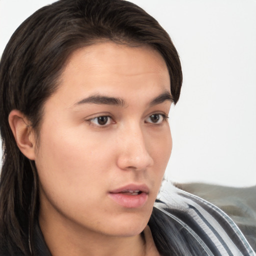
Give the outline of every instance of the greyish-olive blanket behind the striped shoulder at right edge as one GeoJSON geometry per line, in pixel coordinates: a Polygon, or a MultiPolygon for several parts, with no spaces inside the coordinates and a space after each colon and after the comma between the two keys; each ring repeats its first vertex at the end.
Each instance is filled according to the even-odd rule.
{"type": "Polygon", "coordinates": [[[237,188],[204,183],[175,185],[202,197],[227,213],[256,251],[256,186],[237,188]]]}

